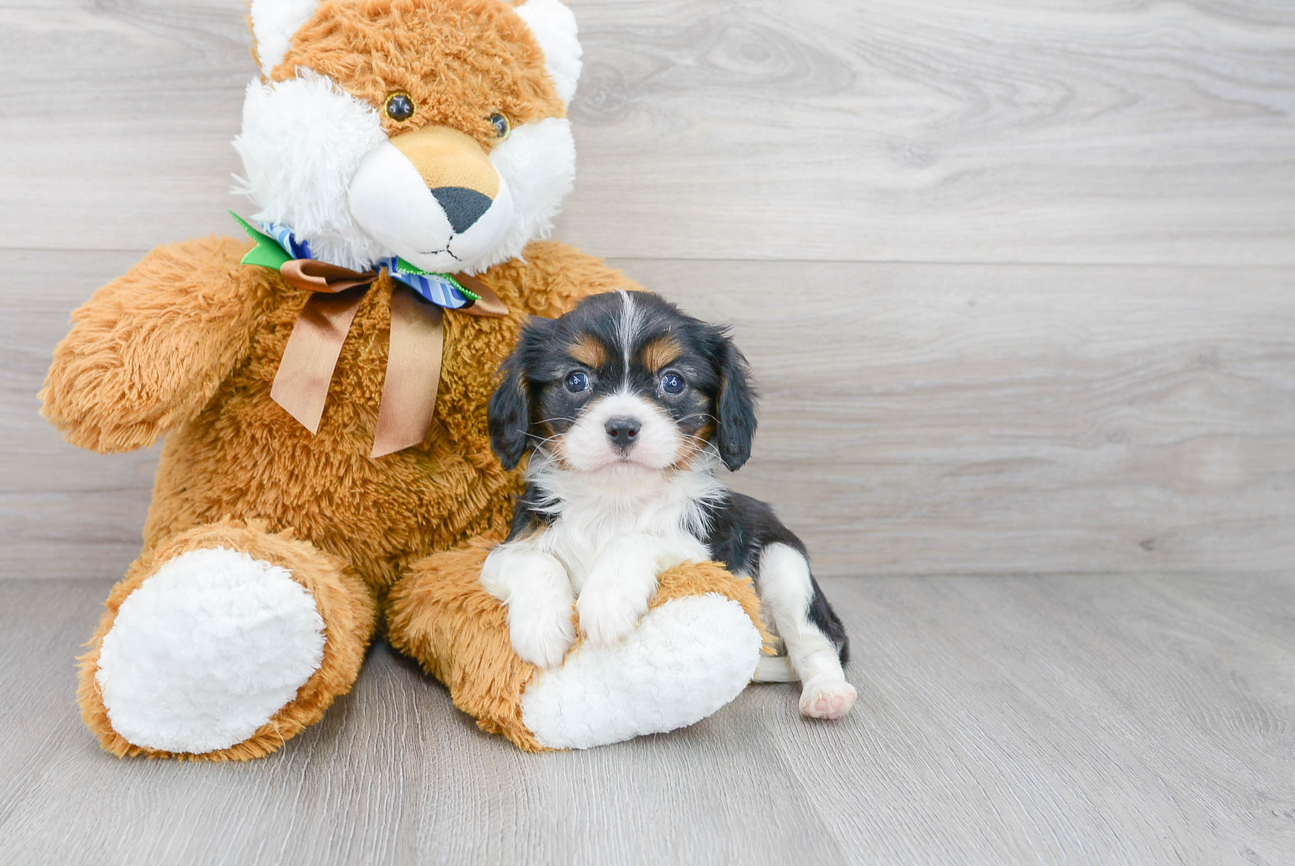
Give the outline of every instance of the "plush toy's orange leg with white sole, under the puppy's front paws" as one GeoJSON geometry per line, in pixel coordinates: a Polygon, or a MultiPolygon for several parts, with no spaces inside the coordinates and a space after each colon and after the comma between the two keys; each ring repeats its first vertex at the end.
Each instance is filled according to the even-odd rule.
{"type": "Polygon", "coordinates": [[[638,629],[576,646],[537,671],[513,652],[502,605],[478,581],[490,544],[414,563],[387,612],[392,645],[449,687],[455,705],[521,748],[589,748],[710,716],[742,691],[767,637],[750,581],[716,563],[671,568],[638,629]]]}

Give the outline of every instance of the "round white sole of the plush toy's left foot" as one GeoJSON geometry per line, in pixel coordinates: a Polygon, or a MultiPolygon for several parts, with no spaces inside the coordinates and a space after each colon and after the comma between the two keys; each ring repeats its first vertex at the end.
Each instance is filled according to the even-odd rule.
{"type": "Polygon", "coordinates": [[[212,548],[167,561],[122,602],[96,682],[130,743],[203,753],[250,738],[322,658],[310,592],[286,568],[212,548]]]}

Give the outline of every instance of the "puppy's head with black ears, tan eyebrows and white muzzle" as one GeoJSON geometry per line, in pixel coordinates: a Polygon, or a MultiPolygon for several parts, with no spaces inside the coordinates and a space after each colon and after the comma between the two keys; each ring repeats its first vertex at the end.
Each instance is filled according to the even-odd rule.
{"type": "Polygon", "coordinates": [[[502,373],[490,432],[506,469],[540,445],[578,471],[664,471],[704,449],[736,470],[751,456],[746,359],[658,295],[592,295],[532,320],[502,373]]]}

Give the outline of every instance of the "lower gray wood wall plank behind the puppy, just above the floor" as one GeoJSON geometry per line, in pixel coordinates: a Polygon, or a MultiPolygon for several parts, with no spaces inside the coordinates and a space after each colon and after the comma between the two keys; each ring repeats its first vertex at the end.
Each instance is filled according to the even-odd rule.
{"type": "MultiPolygon", "coordinates": [[[[34,399],[67,311],[135,255],[0,254],[44,286],[0,295],[0,577],[136,553],[155,453],[78,452],[34,399]]],[[[732,483],[822,573],[1295,562],[1289,269],[616,264],[736,324],[764,399],[732,483]]]]}

